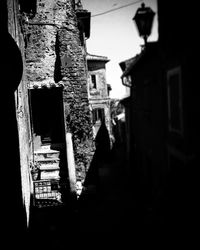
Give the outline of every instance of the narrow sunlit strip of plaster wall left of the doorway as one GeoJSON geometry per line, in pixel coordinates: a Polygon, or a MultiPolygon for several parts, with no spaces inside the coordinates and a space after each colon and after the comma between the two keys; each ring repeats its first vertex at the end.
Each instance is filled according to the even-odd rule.
{"type": "MultiPolygon", "coordinates": [[[[8,7],[8,30],[14,38],[24,61],[24,39],[22,29],[18,19],[18,5],[15,0],[7,0],[8,7]]],[[[24,63],[25,65],[25,63],[24,63]]],[[[25,73],[25,72],[24,72],[25,73]]],[[[26,88],[25,74],[23,74],[21,83],[15,92],[16,100],[16,115],[18,122],[19,134],[19,151],[21,164],[21,182],[22,182],[22,197],[26,209],[27,224],[29,222],[30,209],[30,172],[29,172],[29,158],[31,156],[31,135],[30,135],[30,119],[28,107],[28,92],[26,88]]]]}

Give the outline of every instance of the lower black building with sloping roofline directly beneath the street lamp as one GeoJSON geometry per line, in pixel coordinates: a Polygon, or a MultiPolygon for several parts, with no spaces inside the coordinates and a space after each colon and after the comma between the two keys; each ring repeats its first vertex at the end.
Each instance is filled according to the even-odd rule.
{"type": "Polygon", "coordinates": [[[131,79],[131,168],[141,206],[154,206],[166,177],[164,112],[161,58],[157,42],[148,43],[122,77],[131,79]],[[145,72],[145,74],[144,74],[145,72]]]}

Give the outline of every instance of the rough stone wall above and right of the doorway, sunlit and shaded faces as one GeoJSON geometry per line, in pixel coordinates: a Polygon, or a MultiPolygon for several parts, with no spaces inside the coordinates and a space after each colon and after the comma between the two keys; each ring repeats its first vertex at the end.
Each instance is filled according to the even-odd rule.
{"type": "Polygon", "coordinates": [[[66,132],[73,135],[77,171],[80,165],[87,168],[92,128],[86,52],[80,40],[74,0],[37,1],[36,15],[28,15],[28,21],[25,16],[24,20],[28,84],[63,86],[66,132]]]}

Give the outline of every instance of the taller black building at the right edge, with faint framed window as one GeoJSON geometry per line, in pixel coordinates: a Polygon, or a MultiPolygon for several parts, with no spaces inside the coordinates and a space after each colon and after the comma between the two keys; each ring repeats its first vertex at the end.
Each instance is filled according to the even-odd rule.
{"type": "Polygon", "coordinates": [[[198,29],[197,17],[197,8],[193,6],[177,1],[170,8],[158,0],[170,209],[176,211],[175,223],[181,230],[193,225],[198,217],[199,98],[195,58],[199,47],[194,46],[196,38],[192,35],[198,29]]]}

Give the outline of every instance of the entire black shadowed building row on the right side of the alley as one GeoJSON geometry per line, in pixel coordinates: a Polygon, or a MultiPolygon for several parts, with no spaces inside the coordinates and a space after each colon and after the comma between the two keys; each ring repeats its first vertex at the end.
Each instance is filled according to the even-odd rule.
{"type": "MultiPolygon", "coordinates": [[[[186,211],[195,211],[199,148],[196,48],[194,39],[183,39],[182,26],[193,11],[180,1],[173,6],[161,2],[158,41],[147,43],[130,64],[122,63],[123,83],[131,88],[130,171],[136,178],[133,192],[142,216],[145,210],[153,211],[157,216],[152,216],[153,223],[183,229],[191,223],[186,211]]],[[[186,26],[193,32],[189,17],[186,26]]]]}

